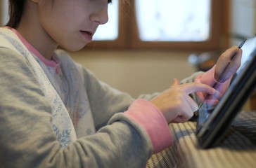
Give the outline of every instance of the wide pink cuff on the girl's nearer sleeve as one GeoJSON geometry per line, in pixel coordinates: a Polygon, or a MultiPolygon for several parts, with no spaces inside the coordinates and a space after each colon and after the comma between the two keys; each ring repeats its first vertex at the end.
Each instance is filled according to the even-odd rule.
{"type": "Polygon", "coordinates": [[[137,99],[124,114],[146,130],[152,142],[153,153],[158,153],[172,146],[173,138],[167,121],[160,110],[151,102],[137,99]]]}

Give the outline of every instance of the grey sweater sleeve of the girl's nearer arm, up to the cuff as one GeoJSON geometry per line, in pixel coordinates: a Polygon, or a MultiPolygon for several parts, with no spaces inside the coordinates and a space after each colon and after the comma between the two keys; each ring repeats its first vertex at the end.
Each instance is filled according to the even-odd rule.
{"type": "Polygon", "coordinates": [[[1,167],[146,167],[151,139],[124,113],[113,115],[96,134],[60,148],[51,107],[30,64],[8,49],[1,48],[0,55],[1,167]]]}

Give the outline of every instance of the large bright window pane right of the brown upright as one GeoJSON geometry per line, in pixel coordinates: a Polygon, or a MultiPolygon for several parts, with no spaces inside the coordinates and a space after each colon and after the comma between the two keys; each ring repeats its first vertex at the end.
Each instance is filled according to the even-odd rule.
{"type": "Polygon", "coordinates": [[[206,41],[210,37],[210,0],[136,0],[135,7],[141,41],[206,41]]]}

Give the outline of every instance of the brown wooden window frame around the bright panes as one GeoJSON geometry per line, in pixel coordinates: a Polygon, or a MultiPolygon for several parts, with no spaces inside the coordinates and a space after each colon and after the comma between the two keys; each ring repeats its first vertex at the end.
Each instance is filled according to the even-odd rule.
{"type": "Polygon", "coordinates": [[[212,0],[210,38],[207,41],[141,41],[134,0],[119,2],[119,36],[115,41],[92,41],[94,50],[219,50],[229,45],[229,0],[212,0]]]}

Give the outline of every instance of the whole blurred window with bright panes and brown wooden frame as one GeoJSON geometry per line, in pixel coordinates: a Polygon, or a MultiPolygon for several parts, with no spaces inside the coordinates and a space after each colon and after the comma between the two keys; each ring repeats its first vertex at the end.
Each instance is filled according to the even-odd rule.
{"type": "Polygon", "coordinates": [[[227,24],[223,24],[227,3],[227,0],[113,0],[109,22],[100,26],[96,41],[87,48],[217,50],[227,43],[226,38],[223,41],[227,32],[227,24]]]}

